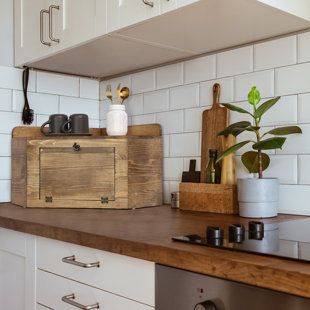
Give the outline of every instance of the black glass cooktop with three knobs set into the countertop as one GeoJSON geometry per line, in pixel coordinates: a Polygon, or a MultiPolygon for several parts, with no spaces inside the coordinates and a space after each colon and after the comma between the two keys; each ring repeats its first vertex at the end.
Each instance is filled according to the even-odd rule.
{"type": "MultiPolygon", "coordinates": [[[[225,227],[206,224],[204,235],[194,231],[172,239],[200,246],[260,255],[279,256],[294,260],[310,261],[310,218],[282,223],[248,221],[225,227]]],[[[310,309],[310,307],[309,307],[310,309]]]]}

